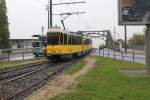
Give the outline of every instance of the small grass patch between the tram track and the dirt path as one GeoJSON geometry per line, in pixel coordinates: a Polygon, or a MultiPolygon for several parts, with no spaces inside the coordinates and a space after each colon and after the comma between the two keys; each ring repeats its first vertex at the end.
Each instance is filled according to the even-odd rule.
{"type": "Polygon", "coordinates": [[[73,65],[71,69],[69,69],[66,74],[72,75],[75,72],[79,71],[80,69],[82,69],[85,66],[86,62],[84,60],[81,60],[80,62],[78,62],[77,64],[73,65]]]}

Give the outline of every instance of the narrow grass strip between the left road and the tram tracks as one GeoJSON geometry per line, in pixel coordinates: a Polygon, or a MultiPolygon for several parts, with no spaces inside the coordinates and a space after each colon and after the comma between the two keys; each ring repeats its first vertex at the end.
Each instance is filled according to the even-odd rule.
{"type": "Polygon", "coordinates": [[[45,61],[46,59],[44,57],[37,57],[33,59],[28,60],[18,60],[18,61],[5,61],[0,62],[0,70],[2,69],[9,69],[9,68],[15,68],[15,67],[21,67],[21,65],[30,64],[30,63],[36,63],[40,61],[45,61]]]}

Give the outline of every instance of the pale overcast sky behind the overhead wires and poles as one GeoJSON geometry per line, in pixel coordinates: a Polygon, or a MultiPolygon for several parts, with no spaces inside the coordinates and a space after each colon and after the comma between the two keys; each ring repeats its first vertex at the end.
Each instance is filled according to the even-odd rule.
{"type": "MultiPolygon", "coordinates": [[[[47,31],[48,0],[6,0],[11,38],[31,38],[41,34],[41,27],[47,31]]],[[[53,0],[53,3],[86,1],[86,4],[54,6],[53,12],[85,11],[83,15],[73,15],[65,21],[67,29],[78,30],[111,30],[116,27],[116,38],[123,38],[124,28],[118,26],[117,0],[53,0]]],[[[54,25],[62,26],[60,16],[53,16],[54,25]]],[[[128,38],[132,33],[143,33],[144,27],[128,27],[128,38]]]]}

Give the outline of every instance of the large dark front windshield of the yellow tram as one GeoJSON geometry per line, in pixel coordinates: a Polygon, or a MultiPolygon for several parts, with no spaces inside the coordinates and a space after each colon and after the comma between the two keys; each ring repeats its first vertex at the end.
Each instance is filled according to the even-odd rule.
{"type": "Polygon", "coordinates": [[[47,35],[47,44],[48,45],[58,45],[59,44],[59,35],[60,34],[48,34],[47,35]]]}

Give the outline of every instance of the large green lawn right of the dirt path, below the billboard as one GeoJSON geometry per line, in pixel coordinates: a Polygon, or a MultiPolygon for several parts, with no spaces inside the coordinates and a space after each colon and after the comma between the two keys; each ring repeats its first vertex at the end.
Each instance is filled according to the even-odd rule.
{"type": "Polygon", "coordinates": [[[150,77],[127,77],[120,69],[141,69],[142,64],[97,57],[95,67],[75,89],[49,100],[149,100],[150,77]]]}

